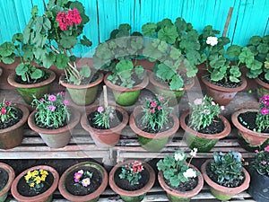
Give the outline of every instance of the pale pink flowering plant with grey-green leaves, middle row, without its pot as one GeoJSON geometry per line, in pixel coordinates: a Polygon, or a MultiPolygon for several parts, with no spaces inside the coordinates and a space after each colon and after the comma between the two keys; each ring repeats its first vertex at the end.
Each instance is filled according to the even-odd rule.
{"type": "Polygon", "coordinates": [[[193,103],[189,103],[192,111],[189,119],[189,127],[196,131],[208,127],[224,110],[224,106],[219,106],[213,101],[213,98],[204,96],[203,99],[195,99],[193,103]]]}

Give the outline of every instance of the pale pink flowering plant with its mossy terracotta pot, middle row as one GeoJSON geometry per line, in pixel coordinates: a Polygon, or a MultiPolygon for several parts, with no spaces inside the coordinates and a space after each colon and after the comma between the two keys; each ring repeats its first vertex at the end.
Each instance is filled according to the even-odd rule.
{"type": "Polygon", "coordinates": [[[197,148],[199,152],[209,152],[219,139],[230,134],[230,122],[221,115],[224,106],[204,96],[189,102],[191,110],[183,113],[180,126],[185,130],[189,148],[197,148]]]}

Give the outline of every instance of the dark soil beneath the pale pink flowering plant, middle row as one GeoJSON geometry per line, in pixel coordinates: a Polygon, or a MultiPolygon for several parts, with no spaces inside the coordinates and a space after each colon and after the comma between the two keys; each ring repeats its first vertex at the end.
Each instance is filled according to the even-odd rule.
{"type": "MultiPolygon", "coordinates": [[[[188,119],[189,119],[189,115],[187,115],[186,119],[185,119],[185,123],[188,124],[188,119]]],[[[217,133],[221,133],[221,131],[224,130],[224,123],[220,118],[214,119],[213,122],[211,123],[211,125],[209,125],[208,127],[204,127],[200,130],[198,130],[199,133],[204,133],[204,134],[208,134],[208,135],[214,135],[217,133]]],[[[192,128],[192,127],[191,127],[192,128]]],[[[193,130],[195,130],[194,128],[192,128],[193,130]]]]}

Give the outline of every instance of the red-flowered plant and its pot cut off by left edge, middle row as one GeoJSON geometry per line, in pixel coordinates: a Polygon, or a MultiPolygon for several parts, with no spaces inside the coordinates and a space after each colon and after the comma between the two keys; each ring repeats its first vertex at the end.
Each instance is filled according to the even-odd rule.
{"type": "Polygon", "coordinates": [[[22,104],[0,102],[0,149],[11,149],[22,143],[24,123],[29,110],[22,104]]]}

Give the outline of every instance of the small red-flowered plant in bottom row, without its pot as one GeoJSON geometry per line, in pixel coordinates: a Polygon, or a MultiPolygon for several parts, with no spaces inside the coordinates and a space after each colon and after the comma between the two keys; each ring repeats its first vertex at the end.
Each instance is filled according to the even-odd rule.
{"type": "Polygon", "coordinates": [[[118,177],[120,179],[126,179],[133,186],[139,184],[139,180],[142,178],[141,172],[143,171],[143,164],[139,161],[127,163],[121,167],[121,172],[118,177]]]}

